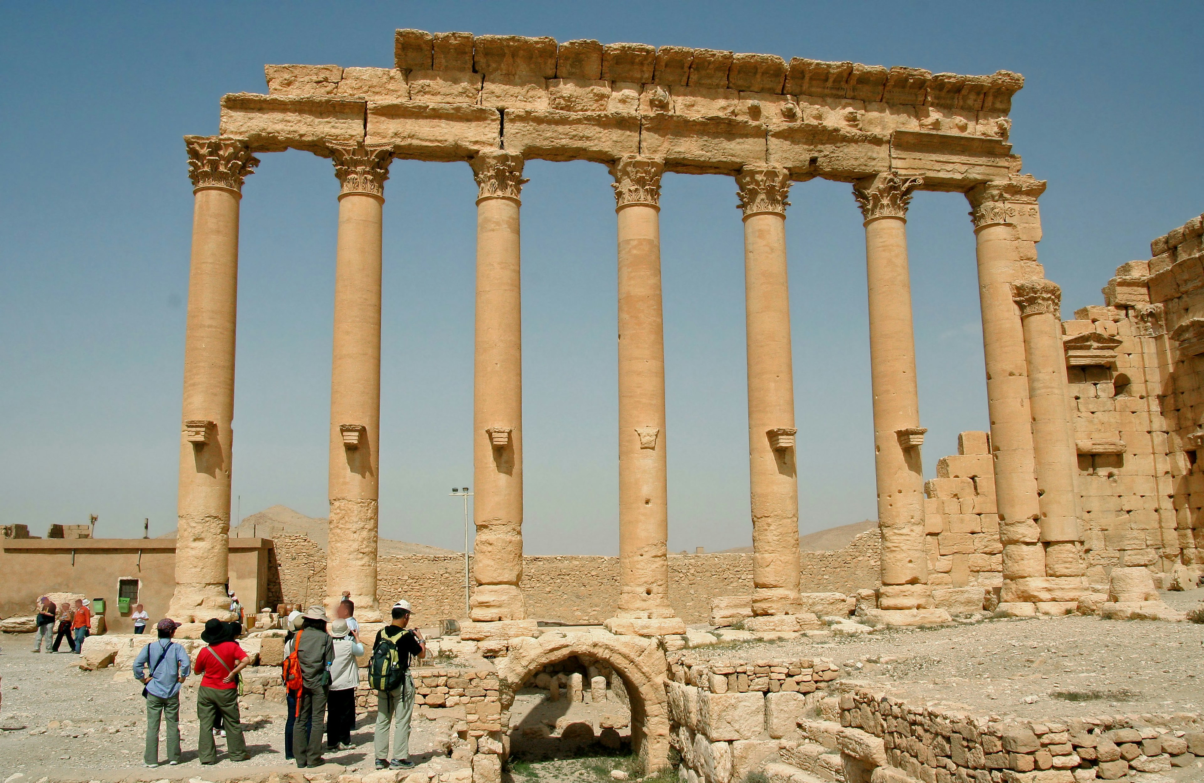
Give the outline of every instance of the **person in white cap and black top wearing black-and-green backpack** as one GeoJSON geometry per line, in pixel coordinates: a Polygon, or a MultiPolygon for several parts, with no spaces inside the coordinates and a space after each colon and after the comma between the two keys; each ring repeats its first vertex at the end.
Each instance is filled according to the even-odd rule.
{"type": "Polygon", "coordinates": [[[376,769],[408,770],[409,719],[414,712],[414,681],[409,658],[426,656],[426,640],[407,628],[412,609],[408,601],[393,605],[393,623],[377,631],[368,662],[368,687],[377,693],[376,769]],[[389,760],[389,729],[393,728],[393,760],[389,760]]]}

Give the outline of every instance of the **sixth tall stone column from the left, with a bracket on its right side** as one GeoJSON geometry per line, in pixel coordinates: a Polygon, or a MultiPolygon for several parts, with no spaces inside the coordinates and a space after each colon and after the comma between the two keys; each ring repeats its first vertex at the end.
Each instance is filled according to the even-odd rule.
{"type": "Polygon", "coordinates": [[[925,548],[920,396],[911,330],[907,208],[917,177],[886,172],[854,185],[866,226],[869,368],[874,396],[874,473],[881,530],[879,606],[932,606],[925,548]]]}

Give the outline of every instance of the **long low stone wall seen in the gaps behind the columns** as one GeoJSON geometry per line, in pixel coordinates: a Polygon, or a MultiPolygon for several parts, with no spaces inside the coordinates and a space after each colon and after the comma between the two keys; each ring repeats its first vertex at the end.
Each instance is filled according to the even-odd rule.
{"type": "MultiPolygon", "coordinates": [[[[807,592],[855,593],[878,587],[878,530],[862,533],[843,550],[802,553],[802,587],[807,592]]],[[[686,623],[706,623],[712,600],[751,595],[749,553],[671,554],[669,603],[686,623]]],[[[285,604],[309,605],[325,597],[326,553],[303,535],[276,539],[267,591],[285,604]]],[[[379,559],[378,592],[388,606],[405,598],[414,604],[424,627],[444,617],[464,617],[464,558],[403,554],[379,559]]],[[[616,557],[525,557],[523,594],[537,619],[601,623],[619,603],[616,557]]],[[[275,605],[275,604],[273,604],[275,605]]]]}

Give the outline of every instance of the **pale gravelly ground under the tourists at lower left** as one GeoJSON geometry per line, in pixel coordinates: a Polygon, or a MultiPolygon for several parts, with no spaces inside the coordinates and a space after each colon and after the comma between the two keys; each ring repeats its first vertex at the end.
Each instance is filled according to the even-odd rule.
{"type": "MultiPolygon", "coordinates": [[[[33,634],[0,636],[0,779],[16,772],[14,783],[54,781],[160,781],[202,775],[207,781],[267,772],[295,771],[284,759],[285,706],[258,696],[242,699],[242,724],[250,759],[225,759],[225,740],[218,738],[218,764],[202,766],[196,758],[199,722],[196,689],[185,687],[181,699],[179,766],[142,766],[146,742],[146,706],[142,687],[130,678],[114,680],[114,670],[79,671],[70,653],[35,654],[33,634]],[[57,725],[54,722],[58,722],[57,725]],[[23,728],[18,728],[23,726],[23,728]]],[[[332,778],[343,769],[367,771],[373,765],[372,723],[376,711],[358,716],[353,749],[327,754],[318,767],[332,778]]],[[[159,731],[159,760],[166,761],[165,730],[159,731]]],[[[436,747],[435,723],[414,718],[411,758],[438,771],[464,766],[436,747]]]]}

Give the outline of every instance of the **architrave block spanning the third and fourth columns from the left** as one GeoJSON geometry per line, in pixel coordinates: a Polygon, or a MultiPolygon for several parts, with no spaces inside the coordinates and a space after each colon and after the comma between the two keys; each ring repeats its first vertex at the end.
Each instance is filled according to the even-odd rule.
{"type": "Polygon", "coordinates": [[[639,152],[639,117],[608,111],[507,109],[506,149],[542,160],[607,162],[639,152]]]}

